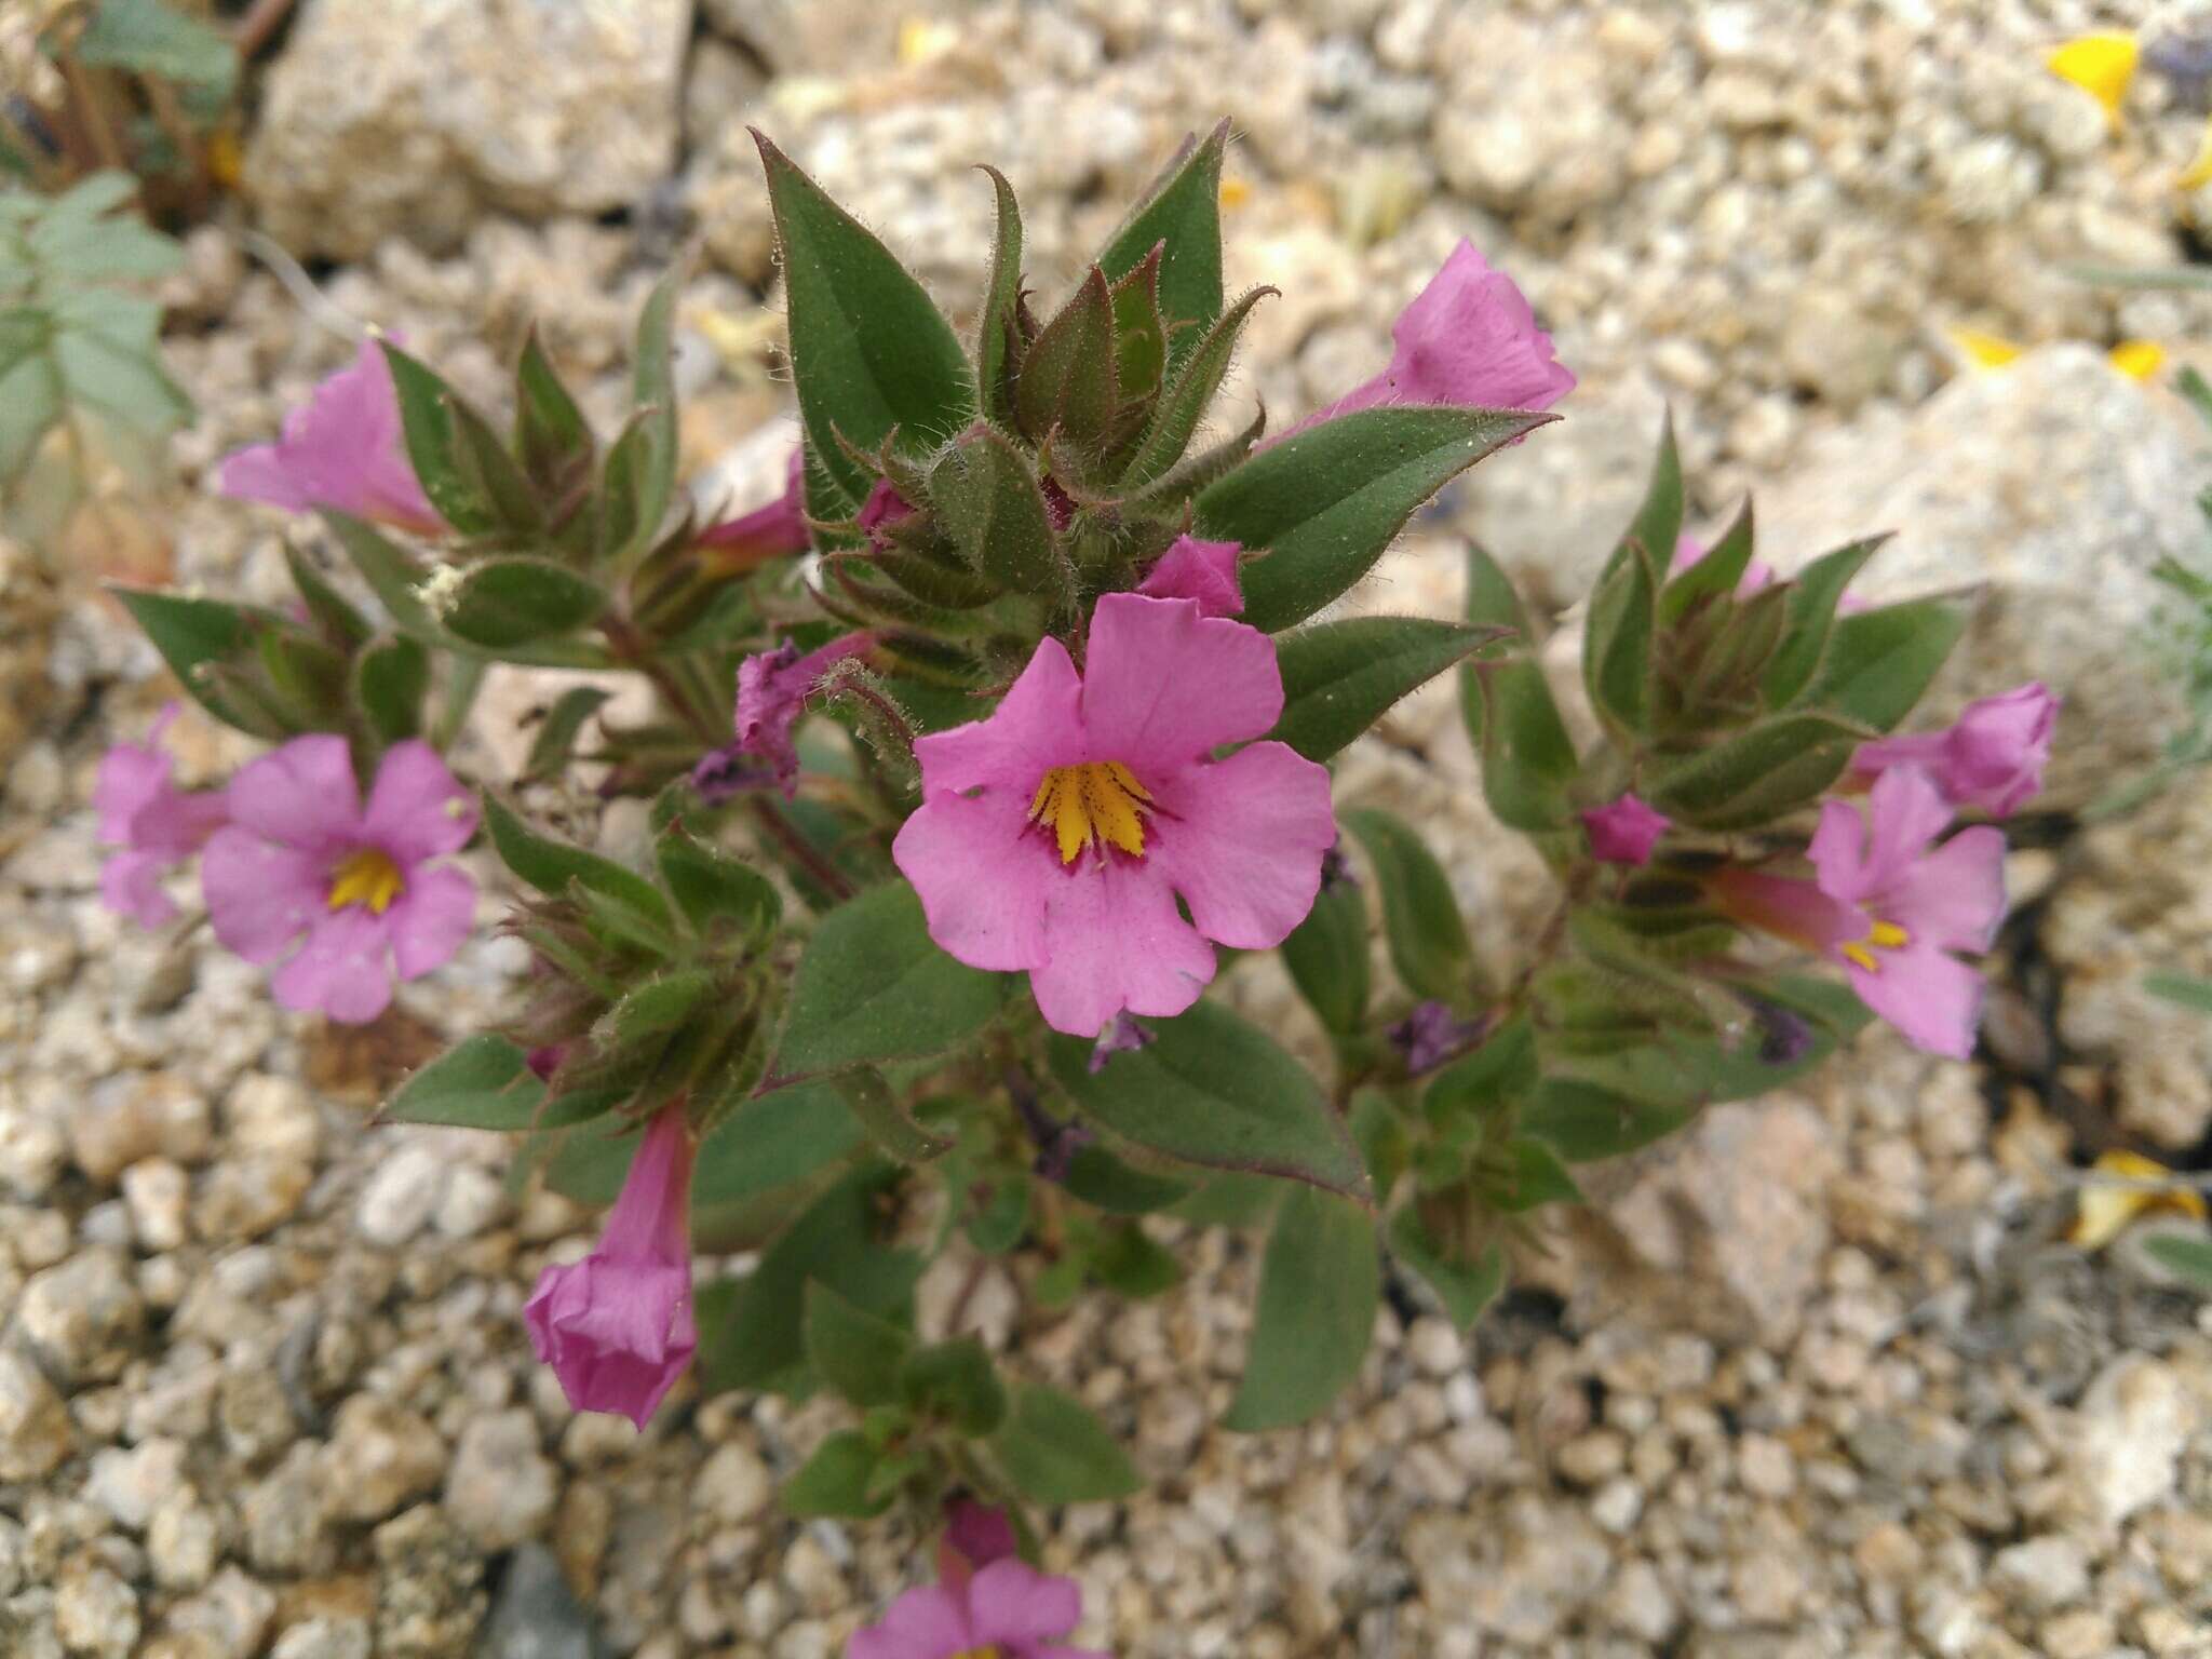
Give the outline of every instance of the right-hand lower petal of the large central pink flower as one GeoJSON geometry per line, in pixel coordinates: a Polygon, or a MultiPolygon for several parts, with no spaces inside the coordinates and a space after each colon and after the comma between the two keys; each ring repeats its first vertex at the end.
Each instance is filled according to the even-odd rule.
{"type": "Polygon", "coordinates": [[[1336,843],[1327,768],[1285,743],[1252,743],[1168,774],[1152,794],[1146,860],[1206,938],[1263,951],[1305,920],[1336,843]]]}

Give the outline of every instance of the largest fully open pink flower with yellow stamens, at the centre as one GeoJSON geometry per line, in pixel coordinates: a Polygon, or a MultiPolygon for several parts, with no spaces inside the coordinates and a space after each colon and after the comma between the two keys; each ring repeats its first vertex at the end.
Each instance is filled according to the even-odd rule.
{"type": "Polygon", "coordinates": [[[1336,841],[1329,774],[1245,743],[1281,712],[1267,635],[1108,593],[1082,672],[1044,639],[989,719],[914,745],[922,805],[891,858],[929,936],[969,967],[1026,969],[1055,1031],[1181,1013],[1214,978],[1208,940],[1279,945],[1336,841]],[[1245,748],[1214,761],[1223,743],[1245,748]]]}

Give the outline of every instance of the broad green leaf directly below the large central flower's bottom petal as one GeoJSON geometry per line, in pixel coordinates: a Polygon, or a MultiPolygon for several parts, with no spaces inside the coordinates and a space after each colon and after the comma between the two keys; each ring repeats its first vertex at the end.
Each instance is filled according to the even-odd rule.
{"type": "Polygon", "coordinates": [[[1183,1164],[1363,1192],[1367,1175],[1312,1073],[1217,1002],[1152,1026],[1093,1073],[1091,1044],[1053,1040],[1053,1075],[1082,1110],[1183,1164]]]}

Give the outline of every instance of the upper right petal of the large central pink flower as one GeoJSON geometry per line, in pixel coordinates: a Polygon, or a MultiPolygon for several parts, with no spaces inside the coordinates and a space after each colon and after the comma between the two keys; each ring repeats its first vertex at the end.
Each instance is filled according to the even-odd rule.
{"type": "Polygon", "coordinates": [[[1261,737],[1281,712],[1283,675],[1259,628],[1137,593],[1108,593],[1091,613],[1088,759],[1150,774],[1261,737]]]}

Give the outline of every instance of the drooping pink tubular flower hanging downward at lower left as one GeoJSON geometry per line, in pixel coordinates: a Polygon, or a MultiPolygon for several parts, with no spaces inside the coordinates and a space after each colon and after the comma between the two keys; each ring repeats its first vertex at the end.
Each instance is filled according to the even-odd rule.
{"type": "Polygon", "coordinates": [[[690,1298],[686,1104],[646,1128],[599,1248],[538,1274],[522,1307],[531,1347],[577,1411],[617,1411],[639,1429],[699,1347],[690,1298]]]}

